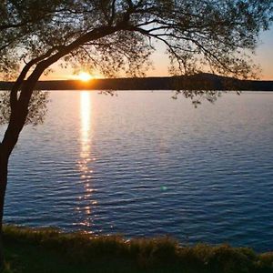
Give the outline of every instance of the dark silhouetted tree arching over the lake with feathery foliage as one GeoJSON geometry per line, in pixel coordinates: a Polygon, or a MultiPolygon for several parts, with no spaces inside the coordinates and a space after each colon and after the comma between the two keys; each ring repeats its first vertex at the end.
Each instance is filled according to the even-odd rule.
{"type": "Polygon", "coordinates": [[[271,0],[5,0],[0,4],[0,73],[14,78],[9,121],[0,145],[0,227],[8,159],[39,77],[56,62],[106,76],[142,76],[159,41],[170,72],[201,70],[249,77],[271,0]],[[250,55],[251,56],[251,55],[250,55]]]}

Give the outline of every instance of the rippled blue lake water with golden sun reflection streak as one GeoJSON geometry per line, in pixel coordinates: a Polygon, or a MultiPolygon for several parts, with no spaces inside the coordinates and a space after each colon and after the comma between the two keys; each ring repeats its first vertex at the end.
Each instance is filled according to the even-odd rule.
{"type": "Polygon", "coordinates": [[[171,96],[51,92],[11,158],[5,223],[272,250],[273,93],[171,96]]]}

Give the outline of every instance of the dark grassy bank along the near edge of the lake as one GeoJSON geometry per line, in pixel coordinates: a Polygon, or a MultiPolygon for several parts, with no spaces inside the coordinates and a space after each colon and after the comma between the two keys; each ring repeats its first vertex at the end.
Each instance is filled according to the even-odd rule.
{"type": "Polygon", "coordinates": [[[171,238],[92,238],[54,229],[5,227],[5,273],[273,272],[273,252],[228,246],[180,247],[171,238]]]}

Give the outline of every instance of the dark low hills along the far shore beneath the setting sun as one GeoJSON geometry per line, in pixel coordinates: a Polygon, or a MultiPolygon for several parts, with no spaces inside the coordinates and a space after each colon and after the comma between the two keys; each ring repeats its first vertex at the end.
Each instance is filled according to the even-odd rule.
{"type": "MultiPolygon", "coordinates": [[[[0,82],[0,90],[10,90],[12,82],[0,82]]],[[[37,90],[248,90],[273,91],[273,81],[238,80],[213,74],[76,80],[39,81],[37,90]]]]}

